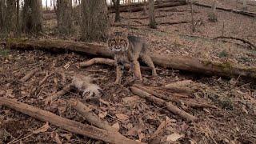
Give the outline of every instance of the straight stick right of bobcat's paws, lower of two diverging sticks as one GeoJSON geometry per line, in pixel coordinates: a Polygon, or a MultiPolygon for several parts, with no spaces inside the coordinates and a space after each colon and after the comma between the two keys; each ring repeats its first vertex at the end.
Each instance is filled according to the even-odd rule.
{"type": "Polygon", "coordinates": [[[186,113],[186,111],[179,109],[177,106],[174,106],[172,103],[166,102],[160,98],[156,98],[156,97],[154,97],[154,95],[149,94],[144,90],[140,90],[134,86],[130,87],[130,89],[134,94],[136,94],[142,98],[146,98],[150,102],[154,102],[155,104],[158,104],[159,106],[166,106],[166,108],[168,110],[170,110],[170,112],[179,115],[180,117],[186,119],[189,122],[194,122],[198,119],[198,118],[194,117],[193,115],[186,113]]]}

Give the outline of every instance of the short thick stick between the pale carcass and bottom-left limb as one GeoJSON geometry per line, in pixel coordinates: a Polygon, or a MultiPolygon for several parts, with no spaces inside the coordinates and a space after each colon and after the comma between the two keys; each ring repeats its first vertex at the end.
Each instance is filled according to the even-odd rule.
{"type": "Polygon", "coordinates": [[[111,127],[106,121],[102,121],[100,118],[98,118],[98,116],[91,114],[90,108],[84,105],[82,102],[74,98],[70,98],[68,102],[75,110],[78,111],[78,113],[82,114],[82,116],[86,118],[87,122],[90,122],[92,125],[104,130],[114,130],[114,128],[111,127]]]}

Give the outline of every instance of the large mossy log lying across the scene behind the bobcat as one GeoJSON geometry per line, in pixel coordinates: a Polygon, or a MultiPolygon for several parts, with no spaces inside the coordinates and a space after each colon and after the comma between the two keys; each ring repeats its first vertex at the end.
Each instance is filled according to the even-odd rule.
{"type": "MultiPolygon", "coordinates": [[[[79,54],[89,54],[98,57],[113,58],[113,54],[106,46],[73,42],[64,40],[7,40],[6,46],[18,50],[50,50],[57,52],[74,51],[79,54]]],[[[256,67],[241,66],[231,62],[211,62],[210,60],[192,58],[188,56],[167,56],[152,54],[151,58],[156,66],[187,70],[190,72],[220,75],[226,77],[242,76],[256,78],[256,67]]]]}

